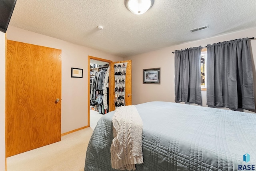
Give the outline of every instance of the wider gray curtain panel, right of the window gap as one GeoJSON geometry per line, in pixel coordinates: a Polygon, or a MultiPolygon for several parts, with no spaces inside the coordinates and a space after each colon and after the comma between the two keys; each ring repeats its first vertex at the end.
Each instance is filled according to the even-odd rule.
{"type": "Polygon", "coordinates": [[[207,45],[207,105],[255,109],[248,38],[207,45]]]}

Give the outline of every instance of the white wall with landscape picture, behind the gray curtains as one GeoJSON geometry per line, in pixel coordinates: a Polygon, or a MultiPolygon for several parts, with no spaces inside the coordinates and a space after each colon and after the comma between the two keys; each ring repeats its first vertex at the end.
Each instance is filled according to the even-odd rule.
{"type": "MultiPolygon", "coordinates": [[[[172,54],[174,50],[181,50],[196,46],[207,46],[207,44],[246,37],[256,37],[256,28],[223,34],[221,36],[206,38],[194,42],[187,42],[157,51],[124,58],[124,60],[132,60],[132,103],[139,104],[148,101],[174,102],[174,54],[172,54]],[[142,70],[158,67],[161,68],[161,84],[142,84],[142,70]]],[[[256,97],[256,39],[250,40],[250,43],[254,72],[254,97],[256,97]]],[[[203,106],[206,106],[206,91],[202,91],[202,98],[203,106]]]]}

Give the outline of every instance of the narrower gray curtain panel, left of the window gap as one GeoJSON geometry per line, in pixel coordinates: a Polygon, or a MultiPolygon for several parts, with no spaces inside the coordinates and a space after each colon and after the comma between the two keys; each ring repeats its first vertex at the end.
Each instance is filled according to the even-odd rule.
{"type": "Polygon", "coordinates": [[[175,101],[202,105],[200,55],[202,47],[175,50],[175,101]]]}

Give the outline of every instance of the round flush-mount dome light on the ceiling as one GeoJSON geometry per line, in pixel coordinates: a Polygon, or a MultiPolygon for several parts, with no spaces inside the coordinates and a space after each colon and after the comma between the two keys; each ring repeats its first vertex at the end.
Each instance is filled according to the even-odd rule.
{"type": "Polygon", "coordinates": [[[132,13],[144,14],[154,4],[154,0],[125,0],[125,6],[132,13]]]}

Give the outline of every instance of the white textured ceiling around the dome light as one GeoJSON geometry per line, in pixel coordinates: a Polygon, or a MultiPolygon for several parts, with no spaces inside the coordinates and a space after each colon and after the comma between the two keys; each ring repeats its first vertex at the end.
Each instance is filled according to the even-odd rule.
{"type": "Polygon", "coordinates": [[[155,0],[135,15],[124,0],[17,0],[10,25],[126,57],[256,27],[255,8],[256,0],[155,0]]]}

